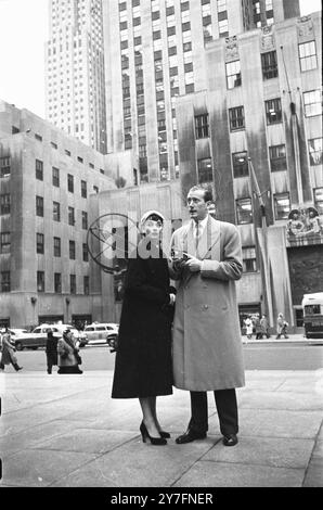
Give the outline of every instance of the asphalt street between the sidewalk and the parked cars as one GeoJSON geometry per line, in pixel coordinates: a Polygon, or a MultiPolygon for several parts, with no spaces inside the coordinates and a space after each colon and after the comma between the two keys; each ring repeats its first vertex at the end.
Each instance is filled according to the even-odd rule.
{"type": "MultiPolygon", "coordinates": [[[[316,370],[323,367],[323,339],[316,344],[303,342],[247,343],[243,345],[246,370],[316,370]]],[[[17,352],[24,371],[46,371],[46,354],[25,349],[17,352]]],[[[80,350],[82,369],[114,370],[115,353],[104,345],[91,345],[80,350]]],[[[12,367],[7,371],[13,370],[12,367]]],[[[55,368],[54,368],[55,371],[55,368]]]]}

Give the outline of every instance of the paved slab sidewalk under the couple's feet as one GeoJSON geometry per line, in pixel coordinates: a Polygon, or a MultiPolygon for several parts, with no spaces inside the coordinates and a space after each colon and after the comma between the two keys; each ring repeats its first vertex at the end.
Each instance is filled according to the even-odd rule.
{"type": "Polygon", "coordinates": [[[207,438],[175,443],[190,417],[179,390],[157,400],[168,445],[143,444],[139,403],[111,399],[112,378],[0,374],[0,487],[323,487],[323,369],[247,371],[232,448],[211,394],[207,438]]]}

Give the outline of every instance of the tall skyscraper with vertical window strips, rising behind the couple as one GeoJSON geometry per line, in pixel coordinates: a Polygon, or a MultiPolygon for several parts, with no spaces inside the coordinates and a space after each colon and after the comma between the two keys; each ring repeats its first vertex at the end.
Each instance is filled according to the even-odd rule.
{"type": "Polygon", "coordinates": [[[133,183],[178,177],[176,101],[206,88],[205,44],[298,14],[297,0],[103,0],[107,151],[138,154],[133,183]]]}

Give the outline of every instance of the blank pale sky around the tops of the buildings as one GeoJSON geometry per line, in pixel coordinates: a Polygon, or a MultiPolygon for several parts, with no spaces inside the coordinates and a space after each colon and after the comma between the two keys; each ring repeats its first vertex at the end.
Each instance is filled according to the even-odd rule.
{"type": "MultiPolygon", "coordinates": [[[[49,0],[0,0],[0,99],[44,117],[49,0]]],[[[301,15],[321,0],[300,0],[301,15]]]]}

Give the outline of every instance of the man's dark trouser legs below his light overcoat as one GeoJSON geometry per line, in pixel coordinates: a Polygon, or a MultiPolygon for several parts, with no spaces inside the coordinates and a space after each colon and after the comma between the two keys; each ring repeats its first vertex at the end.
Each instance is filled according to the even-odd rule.
{"type": "MultiPolygon", "coordinates": [[[[214,393],[221,434],[224,436],[237,434],[238,421],[235,388],[217,390],[214,393]]],[[[208,430],[207,393],[190,392],[190,394],[192,418],[189,429],[204,434],[208,430]]]]}

